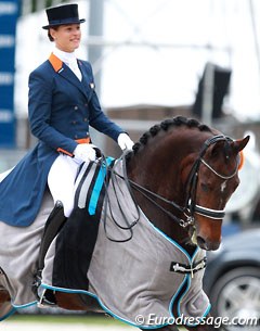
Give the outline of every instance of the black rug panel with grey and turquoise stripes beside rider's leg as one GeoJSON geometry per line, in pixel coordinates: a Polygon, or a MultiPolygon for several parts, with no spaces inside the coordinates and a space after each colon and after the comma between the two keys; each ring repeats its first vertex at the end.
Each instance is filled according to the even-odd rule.
{"type": "Polygon", "coordinates": [[[88,290],[86,275],[96,242],[109,166],[114,158],[83,165],[76,181],[75,208],[46,255],[42,277],[58,288],[88,290]],[[82,263],[83,262],[83,263],[82,263]]]}

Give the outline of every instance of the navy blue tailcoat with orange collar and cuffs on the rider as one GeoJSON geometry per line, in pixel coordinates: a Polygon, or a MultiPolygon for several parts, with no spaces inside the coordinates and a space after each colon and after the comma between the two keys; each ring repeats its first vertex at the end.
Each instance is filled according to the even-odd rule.
{"type": "Polygon", "coordinates": [[[29,123],[39,143],[0,183],[0,220],[26,227],[36,218],[48,174],[58,153],[73,156],[89,125],[115,141],[123,130],[102,112],[89,62],[78,60],[80,81],[51,54],[29,76],[29,123]]]}

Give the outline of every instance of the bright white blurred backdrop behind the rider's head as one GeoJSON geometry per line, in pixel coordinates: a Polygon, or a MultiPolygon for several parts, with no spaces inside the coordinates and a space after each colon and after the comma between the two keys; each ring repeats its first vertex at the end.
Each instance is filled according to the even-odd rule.
{"type": "MultiPolygon", "coordinates": [[[[192,104],[205,64],[212,62],[232,71],[227,112],[239,119],[260,117],[259,1],[107,0],[102,39],[87,38],[89,1],[78,3],[87,18],[79,58],[87,59],[87,43],[103,46],[102,59],[92,64],[102,71],[104,106],[192,104]]],[[[29,72],[53,47],[41,29],[46,22],[44,12],[18,22],[18,114],[27,114],[29,72]]]]}

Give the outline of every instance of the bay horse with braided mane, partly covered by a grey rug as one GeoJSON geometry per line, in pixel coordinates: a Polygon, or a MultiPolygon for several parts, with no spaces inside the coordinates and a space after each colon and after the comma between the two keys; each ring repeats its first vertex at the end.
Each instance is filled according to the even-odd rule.
{"type": "MultiPolygon", "coordinates": [[[[214,251],[221,243],[226,202],[239,183],[242,151],[248,141],[249,137],[233,140],[196,119],[166,119],[153,126],[133,151],[123,155],[125,173],[120,178],[145,217],[178,246],[191,256],[198,247],[214,251]]],[[[195,267],[194,272],[198,271],[195,267]]],[[[57,291],[53,295],[62,308],[95,310],[91,301],[87,303],[77,293],[57,291]]],[[[2,291],[0,307],[5,301],[6,291],[2,291]]],[[[178,306],[171,308],[178,316],[178,306]]],[[[214,330],[206,324],[185,328],[214,330]]],[[[147,328],[140,328],[144,329],[147,328]]],[[[165,324],[159,330],[179,329],[165,324]]]]}

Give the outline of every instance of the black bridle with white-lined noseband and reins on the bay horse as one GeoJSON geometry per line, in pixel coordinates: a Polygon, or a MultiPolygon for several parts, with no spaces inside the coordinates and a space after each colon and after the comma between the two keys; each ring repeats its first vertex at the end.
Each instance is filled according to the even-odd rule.
{"type": "MultiPolygon", "coordinates": [[[[226,136],[213,136],[209,139],[207,139],[204,142],[204,145],[198,154],[198,157],[196,158],[196,161],[194,162],[192,169],[188,174],[187,177],[187,183],[186,187],[188,188],[187,190],[187,196],[185,200],[185,204],[184,206],[180,206],[179,204],[177,204],[173,201],[170,201],[157,193],[154,193],[153,191],[144,188],[143,186],[134,182],[133,180],[127,178],[127,181],[129,182],[130,187],[132,187],[134,190],[136,190],[138,192],[140,192],[143,196],[145,196],[150,202],[152,202],[156,207],[158,207],[159,209],[161,209],[165,214],[167,214],[171,219],[173,219],[174,221],[177,221],[181,227],[186,228],[188,226],[193,226],[194,221],[195,221],[195,216],[194,214],[199,214],[203,215],[205,217],[211,218],[211,219],[216,219],[216,220],[220,220],[223,219],[224,215],[225,215],[225,211],[224,209],[210,209],[204,206],[200,206],[198,204],[196,204],[196,191],[197,191],[197,182],[198,182],[198,171],[199,171],[199,167],[202,165],[206,166],[210,171],[212,171],[216,176],[220,177],[221,179],[224,180],[229,180],[231,178],[233,178],[238,170],[238,166],[239,163],[237,162],[236,164],[236,168],[235,170],[229,175],[222,175],[219,174],[217,170],[214,170],[203,157],[206,153],[206,151],[208,150],[208,148],[219,141],[225,141],[225,142],[232,142],[233,140],[230,137],[226,136]],[[167,203],[168,205],[173,206],[176,209],[178,209],[179,212],[181,212],[186,219],[182,219],[177,217],[176,215],[173,215],[171,212],[167,211],[165,207],[162,207],[159,203],[157,203],[154,198],[156,200],[159,200],[164,203],[167,203]]],[[[126,179],[126,174],[125,174],[125,179],[126,179]]]]}

